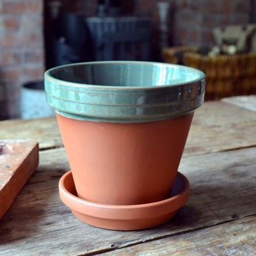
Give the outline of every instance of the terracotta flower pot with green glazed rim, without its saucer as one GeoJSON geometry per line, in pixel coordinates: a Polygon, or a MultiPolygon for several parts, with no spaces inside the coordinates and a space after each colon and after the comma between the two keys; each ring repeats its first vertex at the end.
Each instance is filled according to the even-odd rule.
{"type": "Polygon", "coordinates": [[[91,62],[52,68],[56,109],[78,196],[134,205],[167,199],[205,75],[153,62],[91,62]]]}

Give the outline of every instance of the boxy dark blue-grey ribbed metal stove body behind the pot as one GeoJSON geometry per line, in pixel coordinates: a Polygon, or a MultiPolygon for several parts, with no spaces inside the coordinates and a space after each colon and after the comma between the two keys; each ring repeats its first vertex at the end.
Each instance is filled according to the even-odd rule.
{"type": "Polygon", "coordinates": [[[151,22],[145,17],[86,19],[94,60],[149,60],[151,22]]]}

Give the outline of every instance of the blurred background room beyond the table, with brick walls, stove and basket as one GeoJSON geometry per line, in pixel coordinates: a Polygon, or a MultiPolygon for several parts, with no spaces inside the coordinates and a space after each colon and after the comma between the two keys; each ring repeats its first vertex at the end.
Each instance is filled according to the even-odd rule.
{"type": "Polygon", "coordinates": [[[207,100],[256,94],[256,0],[1,0],[0,120],[52,116],[43,73],[92,60],[200,68],[207,100]]]}

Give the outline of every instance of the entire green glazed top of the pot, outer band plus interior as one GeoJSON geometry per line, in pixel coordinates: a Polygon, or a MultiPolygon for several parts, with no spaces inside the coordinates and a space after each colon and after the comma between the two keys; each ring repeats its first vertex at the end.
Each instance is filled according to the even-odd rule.
{"type": "Polygon", "coordinates": [[[47,102],[56,109],[57,114],[92,122],[139,123],[180,117],[202,105],[205,93],[204,73],[194,68],[155,62],[88,62],[65,65],[48,70],[44,81],[47,102]],[[91,68],[95,68],[94,72],[91,68]],[[117,72],[110,73],[109,68],[114,68],[117,72]],[[129,81],[120,82],[118,72],[121,70],[125,74],[126,69],[128,73],[123,76],[129,81]],[[181,74],[179,70],[182,71],[181,74]],[[172,75],[172,71],[177,75],[172,75]],[[91,80],[84,75],[86,72],[88,77],[92,76],[91,80]],[[177,83],[167,84],[169,80],[164,79],[168,72],[171,78],[174,77],[170,81],[178,81],[177,83]],[[96,73],[96,76],[92,73],[96,73]],[[153,82],[154,76],[159,77],[156,80],[158,83],[163,81],[166,84],[148,86],[153,82]],[[196,79],[190,81],[191,77],[196,79]],[[183,78],[186,78],[184,83],[183,78]],[[96,84],[90,84],[90,81],[96,84]],[[106,85],[97,85],[97,82],[106,85]],[[115,85],[110,86],[111,83],[115,85]],[[122,86],[123,84],[126,86],[122,86]],[[139,86],[134,86],[137,84],[139,86]]]}

